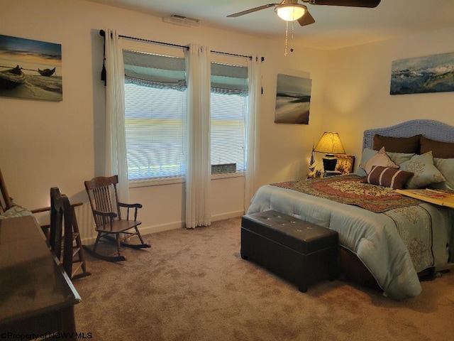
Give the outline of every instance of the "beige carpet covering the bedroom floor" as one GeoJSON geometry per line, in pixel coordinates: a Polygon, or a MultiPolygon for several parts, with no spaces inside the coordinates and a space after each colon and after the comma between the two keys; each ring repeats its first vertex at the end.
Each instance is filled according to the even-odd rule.
{"type": "Polygon", "coordinates": [[[145,239],[152,248],[124,249],[125,262],[87,256],[92,276],[74,281],[78,332],[92,340],[453,338],[453,273],[404,302],[342,281],[300,293],[240,258],[239,218],[145,239]]]}

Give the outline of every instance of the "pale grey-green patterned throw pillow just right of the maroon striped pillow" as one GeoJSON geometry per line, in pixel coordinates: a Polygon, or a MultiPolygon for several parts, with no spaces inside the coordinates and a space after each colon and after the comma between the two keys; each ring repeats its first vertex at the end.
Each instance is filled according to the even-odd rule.
{"type": "Polygon", "coordinates": [[[402,163],[400,169],[414,173],[407,181],[406,188],[426,188],[432,183],[441,183],[446,180],[436,166],[433,166],[431,151],[413,156],[409,161],[402,163]]]}

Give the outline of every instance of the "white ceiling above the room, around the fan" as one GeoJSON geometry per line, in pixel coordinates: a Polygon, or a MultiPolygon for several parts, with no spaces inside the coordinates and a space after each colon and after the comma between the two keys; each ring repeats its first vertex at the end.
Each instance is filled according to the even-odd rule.
{"type": "MultiPolygon", "coordinates": [[[[272,7],[227,18],[228,14],[270,4],[270,0],[89,1],[160,17],[179,14],[199,19],[200,26],[225,28],[255,36],[285,36],[285,22],[272,7]]],[[[323,50],[454,27],[454,0],[382,0],[375,9],[306,6],[316,22],[304,27],[295,22],[295,43],[323,50]]],[[[291,31],[292,24],[289,23],[289,34],[291,31]]]]}

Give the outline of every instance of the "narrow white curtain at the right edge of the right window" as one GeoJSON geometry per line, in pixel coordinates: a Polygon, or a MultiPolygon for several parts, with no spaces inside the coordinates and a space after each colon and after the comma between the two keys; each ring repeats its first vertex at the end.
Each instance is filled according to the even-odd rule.
{"type": "Polygon", "coordinates": [[[244,211],[247,212],[250,200],[255,190],[255,173],[258,172],[258,117],[260,112],[260,97],[262,95],[262,82],[260,74],[261,60],[253,55],[248,60],[248,117],[246,122],[246,172],[245,172],[245,197],[244,211]]]}

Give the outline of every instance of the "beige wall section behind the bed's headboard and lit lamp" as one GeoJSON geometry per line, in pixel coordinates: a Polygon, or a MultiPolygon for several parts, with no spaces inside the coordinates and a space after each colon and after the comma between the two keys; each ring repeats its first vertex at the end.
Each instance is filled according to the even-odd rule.
{"type": "MultiPolygon", "coordinates": [[[[360,156],[358,132],[409,119],[454,125],[454,93],[390,95],[393,60],[454,52],[454,28],[343,48],[326,64],[323,127],[339,131],[348,153],[360,156]]],[[[357,163],[358,165],[358,163],[357,163]]]]}

